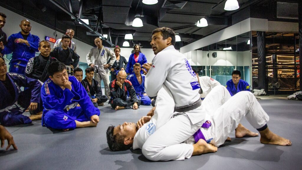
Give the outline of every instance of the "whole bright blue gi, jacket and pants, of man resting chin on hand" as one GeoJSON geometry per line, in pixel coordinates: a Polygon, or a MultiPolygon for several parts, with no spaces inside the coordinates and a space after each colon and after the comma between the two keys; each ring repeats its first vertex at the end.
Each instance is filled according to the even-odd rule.
{"type": "Polygon", "coordinates": [[[85,88],[74,76],[69,76],[72,90],[62,89],[48,79],[41,88],[43,101],[42,126],[53,129],[75,129],[76,122],[90,121],[93,115],[100,115],[85,88]],[[77,107],[77,104],[80,107],[77,107]]]}

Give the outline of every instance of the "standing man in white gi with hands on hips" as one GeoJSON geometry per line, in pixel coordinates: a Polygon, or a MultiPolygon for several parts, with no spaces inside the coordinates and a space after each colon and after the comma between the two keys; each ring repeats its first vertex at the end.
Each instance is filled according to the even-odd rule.
{"type": "Polygon", "coordinates": [[[116,60],[114,52],[111,51],[109,47],[104,47],[102,45],[101,38],[95,38],[95,45],[86,56],[87,64],[90,67],[97,67],[98,71],[95,73],[94,79],[101,84],[101,80],[104,82],[105,86],[105,95],[110,99],[110,90],[109,90],[109,66],[112,66],[116,60]],[[108,64],[107,61],[110,59],[108,64]]]}

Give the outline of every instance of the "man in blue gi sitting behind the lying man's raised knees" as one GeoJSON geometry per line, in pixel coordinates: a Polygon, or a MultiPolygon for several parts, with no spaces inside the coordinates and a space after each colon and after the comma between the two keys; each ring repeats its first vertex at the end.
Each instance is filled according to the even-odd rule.
{"type": "Polygon", "coordinates": [[[232,79],[226,82],[226,89],[230,92],[231,96],[234,96],[239,91],[250,91],[249,83],[241,80],[241,73],[239,70],[232,72],[232,79]]]}

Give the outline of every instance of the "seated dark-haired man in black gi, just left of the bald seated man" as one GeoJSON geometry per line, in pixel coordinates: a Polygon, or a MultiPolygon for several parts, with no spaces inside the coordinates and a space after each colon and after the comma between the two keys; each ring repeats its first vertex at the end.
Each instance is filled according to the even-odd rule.
{"type": "Polygon", "coordinates": [[[92,97],[92,102],[98,103],[98,106],[104,106],[104,102],[108,100],[107,96],[103,95],[101,84],[93,78],[94,68],[88,67],[85,69],[85,79],[83,80],[88,84],[89,92],[92,97]]]}

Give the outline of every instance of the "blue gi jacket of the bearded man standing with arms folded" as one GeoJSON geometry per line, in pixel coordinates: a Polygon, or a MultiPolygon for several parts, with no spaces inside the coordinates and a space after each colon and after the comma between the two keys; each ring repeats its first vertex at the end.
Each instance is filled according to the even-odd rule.
{"type": "Polygon", "coordinates": [[[31,46],[28,47],[24,43],[15,43],[16,38],[23,39],[21,32],[17,34],[11,34],[8,37],[7,44],[5,48],[1,51],[2,54],[10,54],[12,57],[9,62],[10,65],[20,65],[22,67],[26,67],[28,60],[35,56],[35,53],[38,52],[40,38],[37,35],[28,34],[27,41],[31,46]]]}

